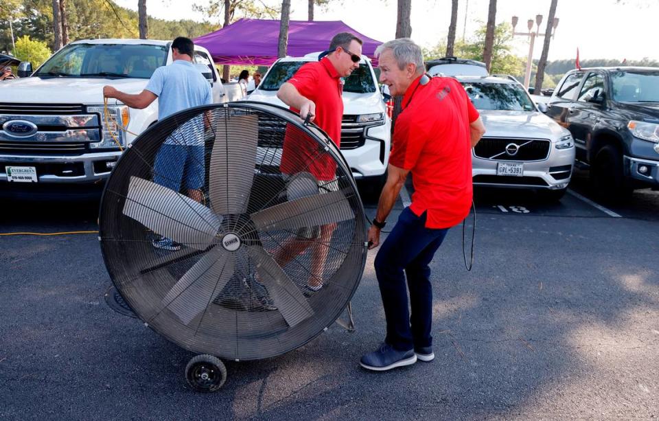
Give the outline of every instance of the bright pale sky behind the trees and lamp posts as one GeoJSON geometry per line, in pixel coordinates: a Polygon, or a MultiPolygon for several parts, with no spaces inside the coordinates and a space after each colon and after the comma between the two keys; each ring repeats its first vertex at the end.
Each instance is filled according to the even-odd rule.
{"type": "MultiPolygon", "coordinates": [[[[192,7],[183,9],[176,0],[148,0],[147,12],[159,19],[208,20],[192,7]]],[[[280,5],[277,0],[263,0],[280,5]]],[[[137,0],[115,0],[125,8],[137,10],[137,0]]],[[[208,0],[193,0],[189,4],[207,5],[208,0]]],[[[396,32],[396,0],[334,0],[328,8],[316,6],[316,21],[341,20],[358,32],[378,41],[389,41],[396,32]]],[[[456,38],[474,34],[487,21],[489,0],[459,0],[456,38]],[[466,19],[465,19],[466,15],[466,19]],[[466,25],[465,25],[466,22],[466,25]]],[[[550,0],[498,0],[496,23],[510,22],[518,16],[518,32],[527,31],[527,21],[542,14],[540,32],[546,30],[550,0]]],[[[307,19],[307,0],[291,0],[291,19],[307,19]]],[[[446,41],[450,23],[451,0],[412,0],[412,38],[422,47],[433,47],[446,41]]],[[[648,57],[659,60],[656,44],[656,18],[659,0],[558,0],[556,16],[559,24],[551,41],[548,60],[575,58],[579,48],[580,60],[617,58],[640,60],[648,57]]],[[[218,18],[220,20],[222,18],[218,18]]],[[[536,26],[533,30],[537,29],[536,26]]],[[[536,38],[533,58],[540,58],[543,37],[536,38]]],[[[524,58],[529,54],[529,37],[516,36],[513,52],[524,58]]]]}

